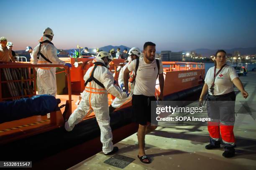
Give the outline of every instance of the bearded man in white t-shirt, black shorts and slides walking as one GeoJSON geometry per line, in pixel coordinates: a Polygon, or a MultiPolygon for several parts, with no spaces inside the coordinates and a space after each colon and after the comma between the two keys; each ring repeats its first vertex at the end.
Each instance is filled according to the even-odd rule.
{"type": "Polygon", "coordinates": [[[143,57],[133,60],[123,73],[125,90],[128,90],[128,78],[131,71],[135,71],[135,87],[132,96],[132,109],[139,124],[138,127],[138,158],[142,163],[151,163],[145,154],[145,135],[157,128],[151,124],[151,101],[156,101],[156,79],[159,76],[160,95],[163,100],[164,75],[161,60],[155,59],[156,44],[146,42],[143,46],[143,57]],[[136,65],[137,72],[136,72],[136,65]]]}

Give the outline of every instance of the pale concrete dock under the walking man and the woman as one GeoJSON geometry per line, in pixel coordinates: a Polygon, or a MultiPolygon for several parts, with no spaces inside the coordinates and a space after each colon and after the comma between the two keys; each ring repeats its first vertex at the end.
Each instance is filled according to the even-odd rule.
{"type": "MultiPolygon", "coordinates": [[[[241,76],[245,90],[249,93],[246,101],[256,101],[256,72],[241,76]]],[[[236,100],[245,101],[235,88],[236,100]]],[[[256,103],[256,102],[254,102],[256,103]]],[[[237,111],[237,110],[236,110],[237,111]]],[[[254,110],[255,111],[255,110],[254,110]]],[[[254,115],[256,112],[252,110],[254,115]]],[[[116,154],[135,159],[124,170],[256,170],[256,120],[249,114],[237,114],[234,126],[236,136],[236,156],[224,158],[224,148],[206,150],[209,143],[207,126],[158,127],[146,135],[146,154],[151,164],[143,164],[137,158],[138,140],[136,134],[119,143],[116,154]]],[[[86,153],[84,153],[86,154],[86,153]]],[[[79,155],[72,155],[79,156],[79,155]]],[[[106,156],[102,152],[69,168],[69,170],[120,170],[104,163],[115,155],[106,156]]]]}

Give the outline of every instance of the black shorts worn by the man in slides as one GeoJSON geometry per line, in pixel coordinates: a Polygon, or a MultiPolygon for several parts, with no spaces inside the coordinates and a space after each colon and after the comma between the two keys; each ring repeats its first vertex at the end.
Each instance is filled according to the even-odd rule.
{"type": "MultiPolygon", "coordinates": [[[[135,116],[136,122],[138,122],[138,124],[147,125],[147,122],[151,122],[151,101],[156,101],[156,97],[145,95],[133,95],[133,115],[135,116]]],[[[152,116],[152,120],[156,120],[156,114],[152,114],[152,116]]],[[[157,124],[156,121],[153,121],[151,123],[157,124]]]]}

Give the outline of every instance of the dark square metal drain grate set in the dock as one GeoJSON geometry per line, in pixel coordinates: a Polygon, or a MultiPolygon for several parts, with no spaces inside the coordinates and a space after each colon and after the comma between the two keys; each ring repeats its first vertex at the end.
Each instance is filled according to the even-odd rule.
{"type": "Polygon", "coordinates": [[[113,157],[109,158],[108,160],[105,160],[104,163],[123,169],[127,165],[132,163],[133,160],[135,160],[135,159],[117,154],[117,155],[114,155],[113,157]]]}

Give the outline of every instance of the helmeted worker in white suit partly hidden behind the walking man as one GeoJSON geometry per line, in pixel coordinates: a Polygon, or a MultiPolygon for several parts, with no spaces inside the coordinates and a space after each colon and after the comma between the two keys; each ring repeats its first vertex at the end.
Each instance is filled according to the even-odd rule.
{"type": "MultiPolygon", "coordinates": [[[[132,47],[129,50],[128,54],[129,54],[128,63],[125,66],[123,66],[123,68],[120,70],[119,76],[118,76],[118,85],[121,87],[121,89],[124,88],[123,72],[124,72],[125,68],[130,64],[130,62],[132,60],[136,60],[139,57],[141,57],[141,50],[138,47],[132,47]]],[[[130,72],[130,79],[129,79],[129,83],[128,83],[128,88],[129,88],[128,92],[130,93],[130,95],[125,99],[120,99],[118,97],[115,97],[112,104],[109,106],[110,113],[113,112],[115,109],[118,109],[122,105],[125,105],[126,103],[131,101],[132,95],[133,95],[133,89],[134,89],[134,85],[135,85],[134,81],[135,81],[135,77],[134,77],[133,71],[132,71],[132,72],[130,72]]]]}

